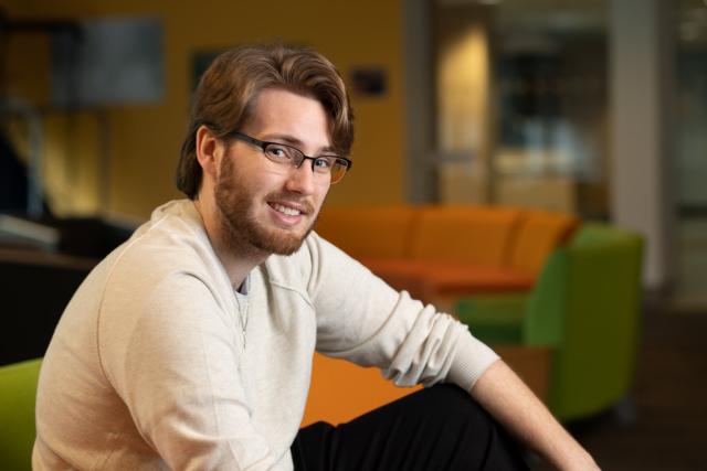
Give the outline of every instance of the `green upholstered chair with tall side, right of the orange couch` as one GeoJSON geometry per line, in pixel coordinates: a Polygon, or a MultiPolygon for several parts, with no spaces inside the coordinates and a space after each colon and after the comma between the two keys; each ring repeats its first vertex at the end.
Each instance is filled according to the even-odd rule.
{"type": "Polygon", "coordinates": [[[460,319],[489,344],[549,346],[548,406],[561,420],[624,398],[635,368],[642,237],[585,223],[546,261],[529,295],[464,299],[460,319]]]}

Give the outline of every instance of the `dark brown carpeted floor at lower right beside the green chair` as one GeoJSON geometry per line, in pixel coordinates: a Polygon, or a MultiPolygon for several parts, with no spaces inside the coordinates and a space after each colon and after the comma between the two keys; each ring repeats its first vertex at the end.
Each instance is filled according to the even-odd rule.
{"type": "Polygon", "coordinates": [[[707,470],[707,311],[656,309],[643,328],[633,407],[568,428],[603,470],[707,470]]]}

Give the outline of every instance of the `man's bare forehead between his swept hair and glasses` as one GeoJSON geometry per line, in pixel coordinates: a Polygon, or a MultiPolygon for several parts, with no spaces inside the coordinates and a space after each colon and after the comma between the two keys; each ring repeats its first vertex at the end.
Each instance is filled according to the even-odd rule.
{"type": "Polygon", "coordinates": [[[244,130],[261,139],[282,135],[317,149],[331,146],[330,119],[321,103],[279,88],[264,89],[255,97],[244,130]]]}

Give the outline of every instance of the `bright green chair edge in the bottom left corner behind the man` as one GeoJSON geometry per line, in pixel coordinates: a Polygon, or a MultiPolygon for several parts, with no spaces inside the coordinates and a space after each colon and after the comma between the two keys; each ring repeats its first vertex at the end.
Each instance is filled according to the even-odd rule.
{"type": "Polygon", "coordinates": [[[34,399],[41,360],[0,367],[0,468],[32,469],[34,399]]]}

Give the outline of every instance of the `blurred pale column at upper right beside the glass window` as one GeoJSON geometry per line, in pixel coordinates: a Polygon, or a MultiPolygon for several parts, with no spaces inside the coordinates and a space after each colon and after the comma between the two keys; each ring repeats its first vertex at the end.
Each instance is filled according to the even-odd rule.
{"type": "Polygon", "coordinates": [[[612,222],[646,239],[644,282],[671,279],[674,4],[610,1],[612,222]]]}

